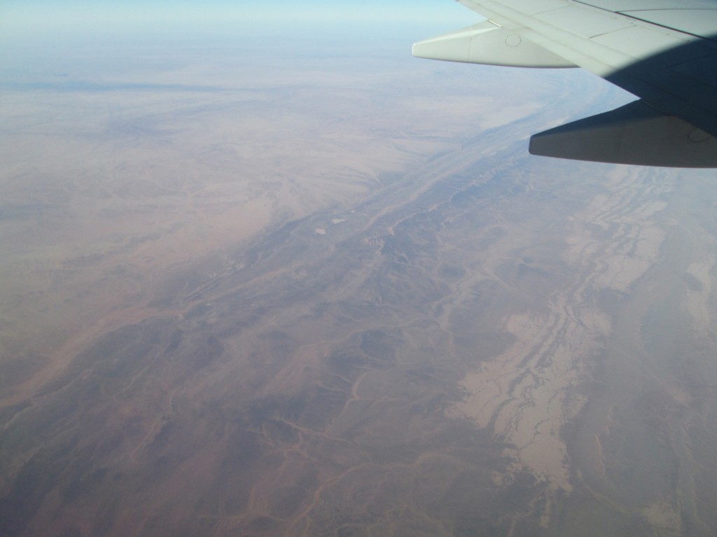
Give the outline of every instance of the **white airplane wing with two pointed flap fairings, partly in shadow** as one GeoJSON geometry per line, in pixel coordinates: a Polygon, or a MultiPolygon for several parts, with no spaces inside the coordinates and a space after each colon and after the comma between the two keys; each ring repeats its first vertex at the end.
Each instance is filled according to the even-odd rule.
{"type": "Polygon", "coordinates": [[[717,1],[457,1],[488,20],[416,43],[414,56],[582,67],[640,98],[533,135],[531,153],[717,167],[717,1]]]}

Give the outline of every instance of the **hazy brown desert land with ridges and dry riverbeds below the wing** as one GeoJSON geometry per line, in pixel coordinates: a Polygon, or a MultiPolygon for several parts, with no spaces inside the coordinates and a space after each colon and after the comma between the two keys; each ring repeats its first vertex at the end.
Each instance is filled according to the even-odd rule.
{"type": "Polygon", "coordinates": [[[277,49],[4,66],[0,533],[714,533],[713,172],[527,156],[582,72],[277,49]]]}

